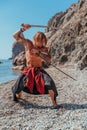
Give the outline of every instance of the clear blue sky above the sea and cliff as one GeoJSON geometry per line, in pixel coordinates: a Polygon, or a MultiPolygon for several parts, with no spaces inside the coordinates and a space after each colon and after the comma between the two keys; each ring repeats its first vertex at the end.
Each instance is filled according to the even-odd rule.
{"type": "MultiPolygon", "coordinates": [[[[0,59],[12,57],[13,34],[22,23],[47,25],[58,12],[66,11],[78,0],[0,0],[0,59]]],[[[30,28],[24,36],[32,40],[37,31],[44,28],[30,28]]]]}

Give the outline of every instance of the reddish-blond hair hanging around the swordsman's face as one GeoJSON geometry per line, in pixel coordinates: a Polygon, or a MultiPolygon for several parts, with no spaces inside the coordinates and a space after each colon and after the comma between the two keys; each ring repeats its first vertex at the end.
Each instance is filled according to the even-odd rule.
{"type": "Polygon", "coordinates": [[[45,44],[45,45],[47,44],[47,38],[43,32],[37,32],[34,35],[33,39],[34,39],[34,41],[37,41],[37,42],[43,41],[42,44],[45,44]]]}

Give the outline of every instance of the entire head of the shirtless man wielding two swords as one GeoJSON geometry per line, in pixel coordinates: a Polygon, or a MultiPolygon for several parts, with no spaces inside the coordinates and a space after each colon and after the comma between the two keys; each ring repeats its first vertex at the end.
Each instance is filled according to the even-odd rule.
{"type": "Polygon", "coordinates": [[[37,32],[33,38],[34,38],[34,45],[36,47],[43,47],[47,44],[47,39],[43,32],[37,32]]]}

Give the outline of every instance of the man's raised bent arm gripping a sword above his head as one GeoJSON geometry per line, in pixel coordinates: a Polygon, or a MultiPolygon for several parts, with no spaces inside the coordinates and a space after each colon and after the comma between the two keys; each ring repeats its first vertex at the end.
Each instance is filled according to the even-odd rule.
{"type": "Polygon", "coordinates": [[[13,37],[20,43],[26,43],[27,39],[23,37],[23,32],[29,29],[29,24],[22,24],[22,28],[13,34],[13,37]]]}

